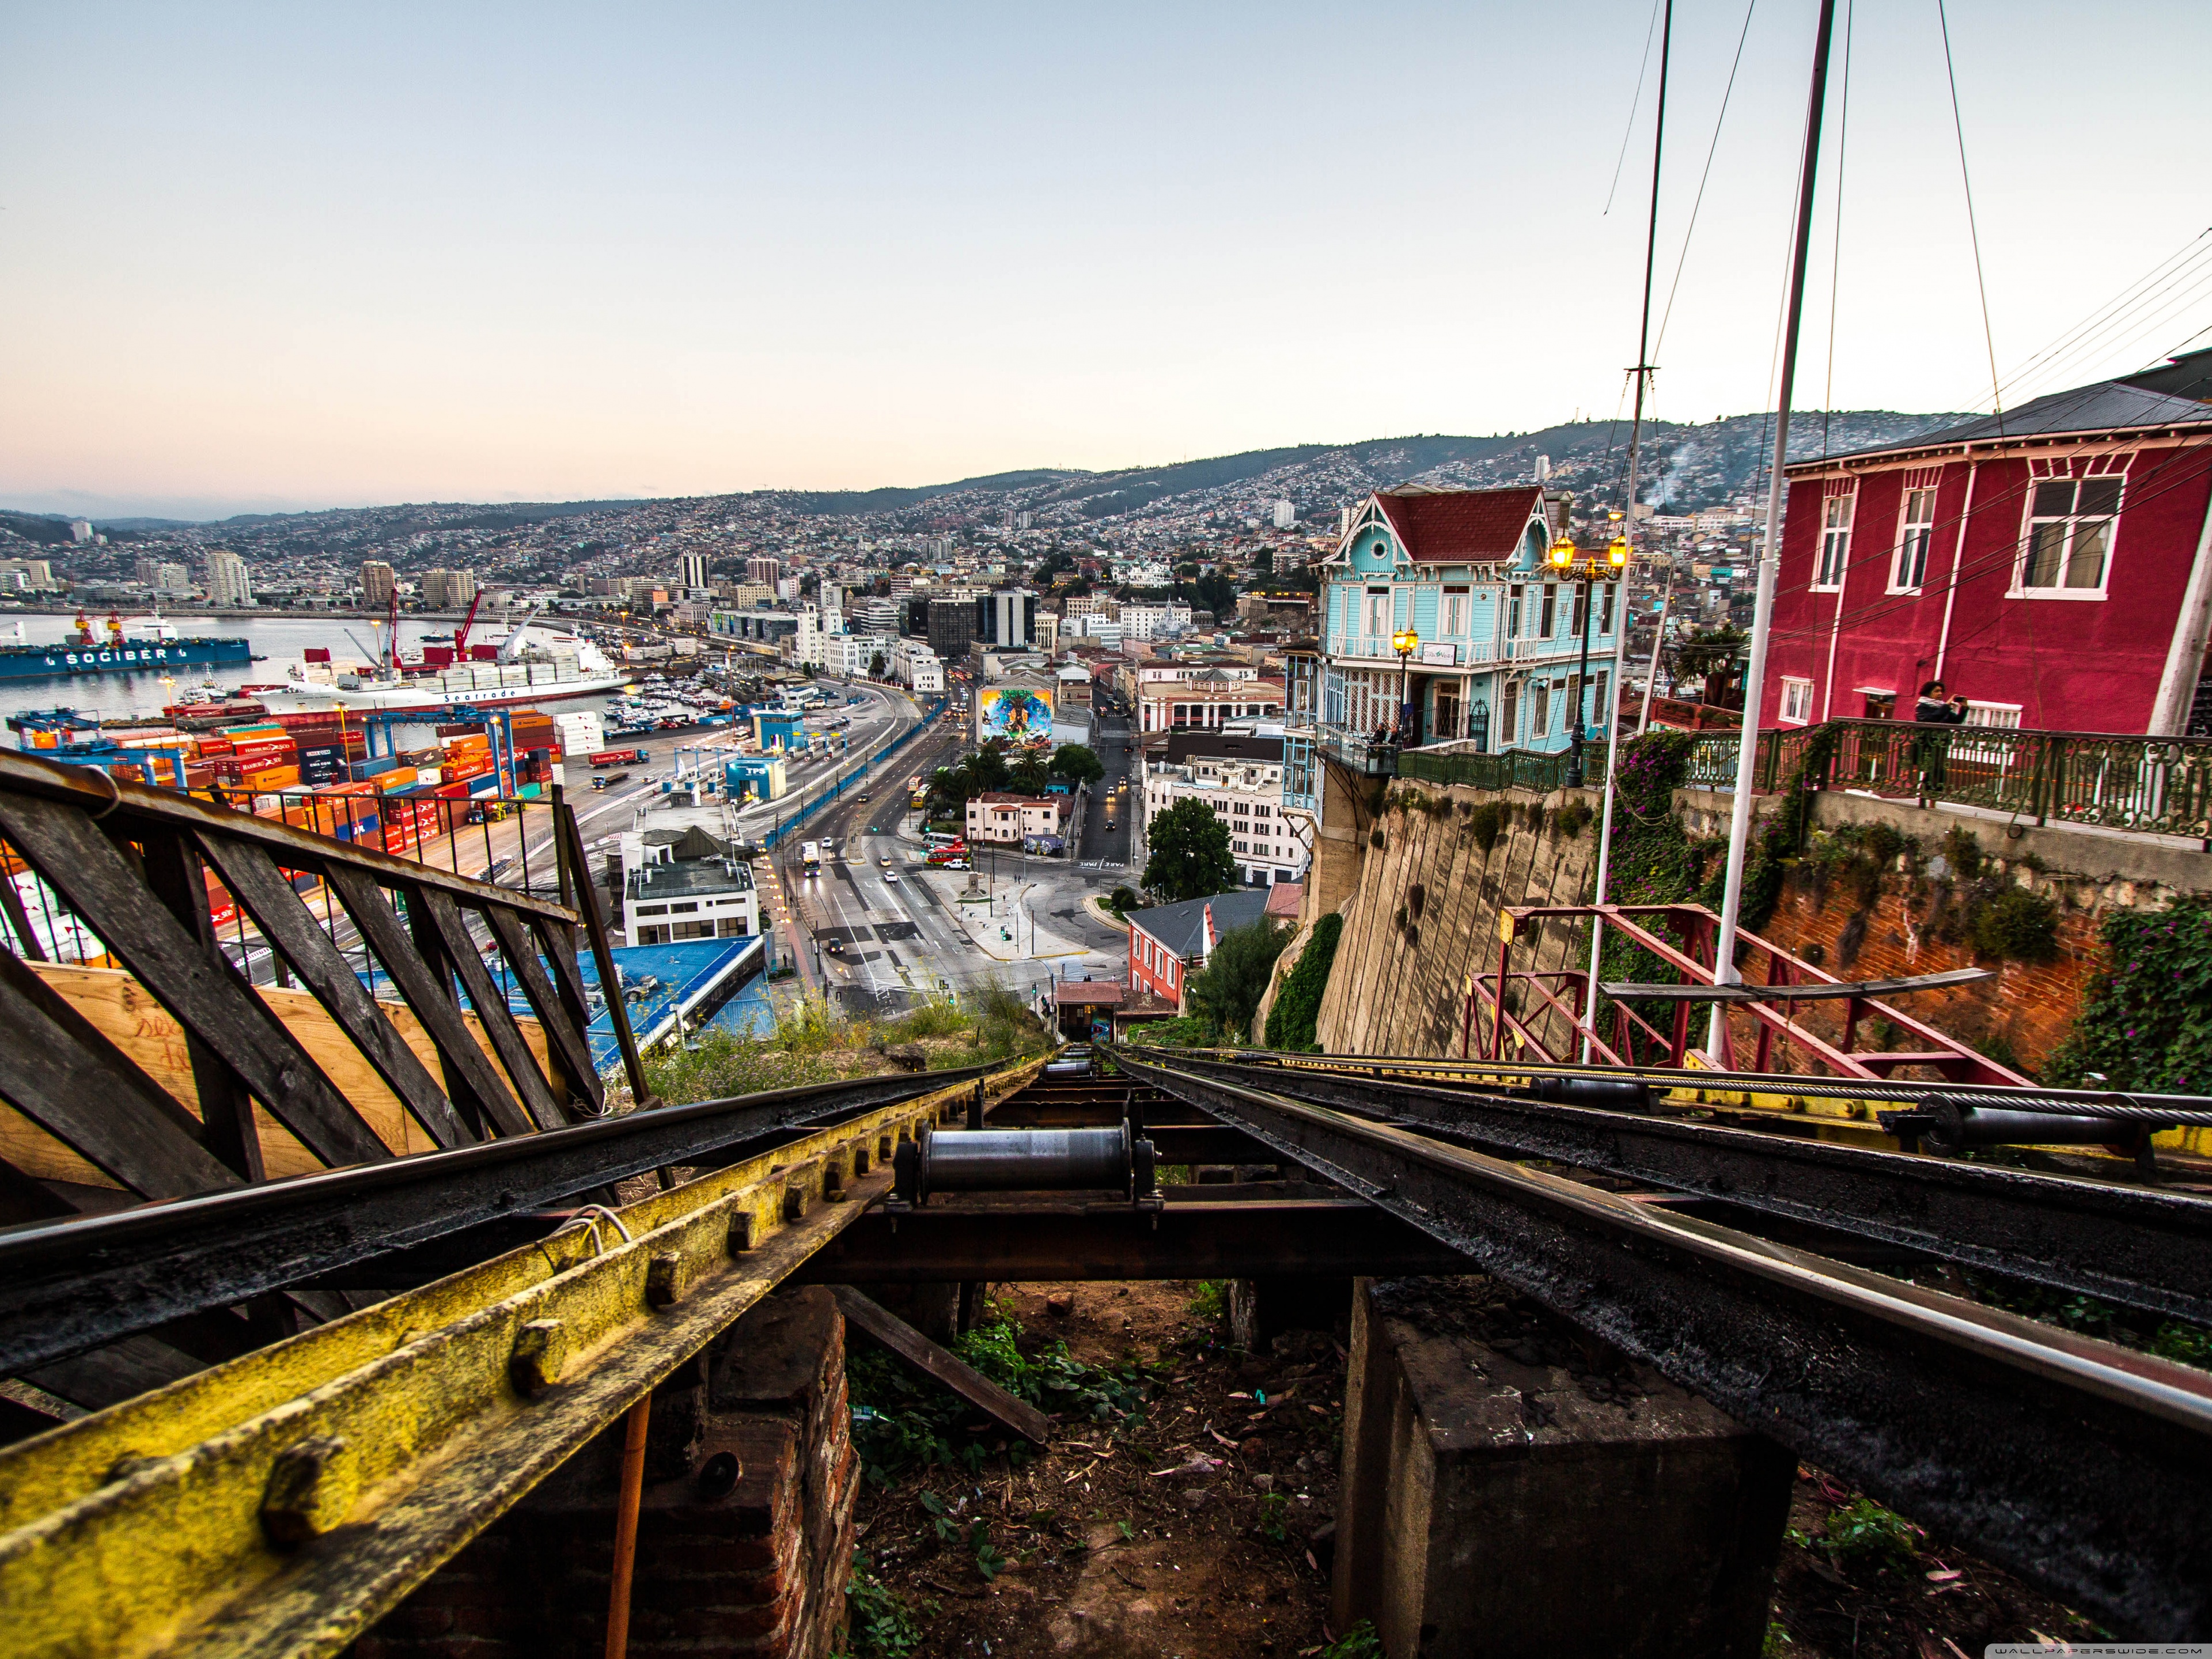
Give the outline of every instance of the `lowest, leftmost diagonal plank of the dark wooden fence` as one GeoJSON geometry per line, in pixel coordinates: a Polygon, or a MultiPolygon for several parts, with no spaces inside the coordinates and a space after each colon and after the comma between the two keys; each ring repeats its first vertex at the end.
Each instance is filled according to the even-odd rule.
{"type": "Polygon", "coordinates": [[[181,1199],[241,1186],[199,1121],[29,964],[0,951],[0,1095],[131,1192],[181,1199]]]}

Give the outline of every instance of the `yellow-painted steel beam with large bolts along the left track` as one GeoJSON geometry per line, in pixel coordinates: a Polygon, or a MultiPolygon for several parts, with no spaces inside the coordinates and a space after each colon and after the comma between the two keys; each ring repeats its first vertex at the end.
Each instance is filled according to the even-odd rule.
{"type": "Polygon", "coordinates": [[[564,1230],[0,1451],[0,1652],[341,1650],[836,1237],[894,1144],[971,1091],[633,1203],[628,1241],[564,1230]]]}

